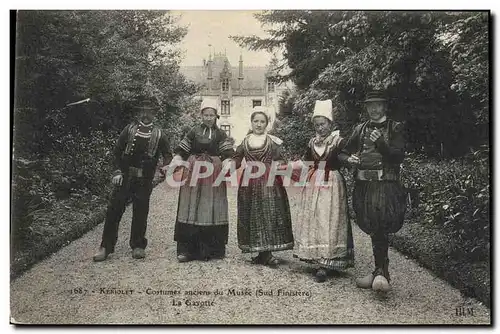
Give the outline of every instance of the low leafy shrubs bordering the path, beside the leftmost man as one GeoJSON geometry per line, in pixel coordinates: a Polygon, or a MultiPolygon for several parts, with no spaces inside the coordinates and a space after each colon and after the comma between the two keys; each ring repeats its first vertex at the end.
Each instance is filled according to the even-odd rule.
{"type": "MultiPolygon", "coordinates": [[[[64,199],[90,203],[110,191],[111,150],[116,134],[95,131],[89,137],[67,134],[48,158],[14,160],[13,237],[33,237],[37,217],[64,199]]],[[[16,245],[20,246],[20,245],[16,245]]]]}

